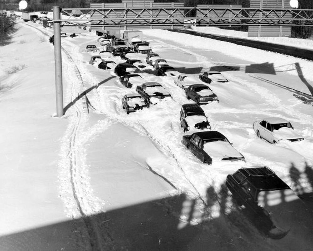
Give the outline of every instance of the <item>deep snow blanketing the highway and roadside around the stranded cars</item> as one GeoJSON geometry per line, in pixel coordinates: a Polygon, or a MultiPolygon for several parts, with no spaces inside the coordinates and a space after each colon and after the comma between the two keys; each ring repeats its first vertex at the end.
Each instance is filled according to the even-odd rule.
{"type": "MultiPolygon", "coordinates": [[[[136,87],[125,88],[113,70],[101,70],[89,64],[94,54],[86,53],[85,48],[88,44],[99,46],[95,32],[85,32],[85,37],[62,38],[67,52],[62,54],[66,113],[61,119],[53,117],[53,46],[48,43],[47,35],[29,26],[53,34],[52,29],[21,22],[12,43],[0,48],[0,101],[4,107],[0,110],[3,118],[0,142],[4,153],[0,198],[4,204],[2,213],[6,215],[1,220],[2,236],[184,195],[178,214],[174,213],[172,204],[161,203],[171,217],[179,219],[174,228],[187,231],[190,227],[204,226],[208,233],[222,236],[218,237],[220,242],[232,244],[225,248],[214,242],[217,249],[232,250],[236,246],[236,250],[243,247],[308,250],[312,247],[311,219],[306,219],[306,223],[303,219],[307,214],[299,213],[292,219],[294,224],[288,237],[265,238],[239,213],[224,185],[226,176],[238,168],[267,165],[296,192],[312,192],[309,175],[313,164],[312,105],[303,103],[286,89],[260,80],[312,95],[310,61],[187,34],[143,30],[153,51],[177,71],[198,76],[206,70],[219,70],[229,80],[210,84],[220,102],[202,108],[212,130],[223,133],[246,162],[213,161],[212,165],[205,165],[181,143],[182,136],[188,133],[183,133],[180,127],[179,111],[182,104],[192,103],[184,91],[174,84],[173,78],[156,76],[153,68],[147,66],[139,72],[144,81],[161,83],[172,99],[165,98],[149,109],[127,115],[121,98],[135,93],[136,87]],[[21,70],[8,74],[14,66],[21,70]],[[87,100],[81,97],[83,92],[87,100]],[[305,140],[270,144],[257,138],[252,124],[266,117],[289,120],[305,140]],[[297,179],[293,173],[298,173],[297,179]]],[[[235,36],[215,28],[196,29],[235,36]]],[[[73,31],[63,28],[62,32],[73,31]]],[[[295,46],[294,40],[287,40],[275,39],[276,43],[295,46]]],[[[312,48],[307,40],[297,40],[297,46],[312,48]]],[[[139,57],[145,62],[144,57],[139,57]]],[[[110,60],[124,62],[113,56],[110,60]]],[[[106,221],[110,219],[102,222],[106,221]]],[[[75,227],[70,228],[74,233],[75,227]]],[[[98,229],[97,235],[103,234],[105,228],[97,223],[94,229],[98,229]]],[[[81,230],[81,235],[74,234],[78,239],[76,250],[88,249],[89,244],[82,237],[84,231],[88,232],[81,230]]],[[[11,239],[3,238],[4,246],[13,245],[11,239]]],[[[116,238],[111,238],[110,242],[114,241],[116,238]]],[[[158,245],[150,244],[146,248],[162,248],[161,243],[159,238],[158,245]]],[[[204,250],[209,243],[213,245],[212,239],[200,245],[194,238],[188,247],[204,250]]],[[[123,245],[131,247],[126,241],[123,245]]],[[[38,244],[34,249],[39,247],[38,244]]]]}

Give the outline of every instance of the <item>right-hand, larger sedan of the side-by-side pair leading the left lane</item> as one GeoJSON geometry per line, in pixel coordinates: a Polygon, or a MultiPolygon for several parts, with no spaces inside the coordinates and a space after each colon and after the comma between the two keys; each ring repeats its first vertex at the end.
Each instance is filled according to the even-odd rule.
{"type": "Polygon", "coordinates": [[[158,99],[172,97],[161,84],[156,82],[143,83],[136,87],[136,91],[145,99],[147,104],[156,104],[158,99]]]}

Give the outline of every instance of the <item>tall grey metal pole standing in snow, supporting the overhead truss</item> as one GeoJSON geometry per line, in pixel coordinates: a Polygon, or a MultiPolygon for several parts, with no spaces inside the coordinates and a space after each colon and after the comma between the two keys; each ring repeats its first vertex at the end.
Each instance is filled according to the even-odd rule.
{"type": "MultiPolygon", "coordinates": [[[[60,20],[60,7],[53,7],[53,20],[60,20]]],[[[57,103],[57,117],[64,115],[63,110],[63,85],[62,85],[62,55],[61,55],[61,21],[53,21],[54,38],[54,68],[55,91],[57,103]]]]}

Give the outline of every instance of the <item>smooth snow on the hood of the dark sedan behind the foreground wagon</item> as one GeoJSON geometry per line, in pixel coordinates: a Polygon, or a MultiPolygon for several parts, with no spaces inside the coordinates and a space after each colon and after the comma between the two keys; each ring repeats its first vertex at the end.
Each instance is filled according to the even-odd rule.
{"type": "Polygon", "coordinates": [[[222,160],[223,158],[242,158],[243,156],[232,147],[231,144],[225,141],[213,141],[205,143],[203,150],[213,160],[222,160]]]}

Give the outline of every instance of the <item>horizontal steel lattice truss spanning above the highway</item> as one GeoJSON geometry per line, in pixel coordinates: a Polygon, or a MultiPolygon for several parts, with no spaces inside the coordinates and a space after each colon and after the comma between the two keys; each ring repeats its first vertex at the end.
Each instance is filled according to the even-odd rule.
{"type": "Polygon", "coordinates": [[[62,9],[68,18],[53,21],[62,26],[131,27],[131,26],[183,26],[200,20],[202,25],[265,25],[265,26],[313,26],[312,9],[288,8],[75,8],[62,9]],[[80,10],[80,17],[72,13],[80,10]],[[73,12],[74,11],[74,12],[73,12]]]}

